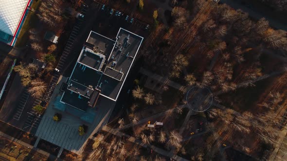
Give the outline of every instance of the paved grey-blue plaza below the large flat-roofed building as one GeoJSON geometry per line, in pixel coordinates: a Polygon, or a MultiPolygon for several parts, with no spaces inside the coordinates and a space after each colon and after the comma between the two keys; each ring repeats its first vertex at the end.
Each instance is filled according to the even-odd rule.
{"type": "MultiPolygon", "coordinates": [[[[59,84],[65,82],[66,79],[67,78],[63,78],[59,84]]],[[[71,150],[72,152],[80,153],[81,150],[83,150],[82,146],[84,146],[90,134],[107,124],[115,102],[106,97],[99,97],[95,109],[88,108],[87,112],[82,112],[60,103],[59,100],[61,97],[60,85],[57,85],[52,95],[51,103],[36,131],[36,136],[71,150]],[[57,109],[55,109],[55,107],[57,107],[57,109]],[[63,109],[63,112],[61,112],[61,109],[63,109]],[[55,113],[62,114],[61,121],[55,122],[53,120],[55,113]],[[77,116],[75,116],[75,114],[77,114],[77,116]],[[90,117],[88,120],[90,123],[83,121],[83,119],[88,119],[87,117],[90,117]],[[88,126],[88,130],[85,135],[79,136],[78,128],[83,124],[88,126]]]]}

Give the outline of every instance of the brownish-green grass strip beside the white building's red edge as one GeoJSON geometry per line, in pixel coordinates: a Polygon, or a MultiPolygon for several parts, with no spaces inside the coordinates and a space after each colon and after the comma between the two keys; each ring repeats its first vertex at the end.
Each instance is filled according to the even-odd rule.
{"type": "Polygon", "coordinates": [[[34,27],[37,22],[36,11],[38,10],[38,7],[41,4],[41,2],[42,0],[33,0],[31,8],[33,8],[35,11],[28,12],[28,15],[26,16],[24,24],[18,35],[15,47],[23,47],[27,43],[29,30],[31,29],[31,27],[34,27]]]}

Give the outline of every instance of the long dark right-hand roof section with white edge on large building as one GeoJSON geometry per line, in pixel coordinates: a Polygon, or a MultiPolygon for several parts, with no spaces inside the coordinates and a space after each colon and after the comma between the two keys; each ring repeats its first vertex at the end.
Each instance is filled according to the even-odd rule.
{"type": "MultiPolygon", "coordinates": [[[[117,42],[115,43],[115,47],[113,48],[108,60],[107,67],[115,71],[120,71],[122,73],[122,78],[120,82],[116,82],[119,80],[119,75],[112,70],[105,70],[105,74],[102,79],[109,80],[108,83],[102,85],[101,95],[111,98],[113,100],[117,100],[121,89],[126,81],[126,77],[128,72],[135,60],[135,57],[139,51],[139,48],[142,44],[143,37],[136,35],[132,32],[129,32],[125,29],[120,28],[117,36],[117,42]],[[109,77],[115,78],[111,80],[109,77]]],[[[103,81],[102,81],[103,82],[103,81]]]]}

